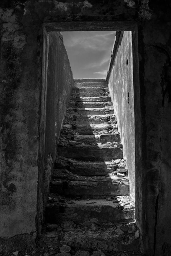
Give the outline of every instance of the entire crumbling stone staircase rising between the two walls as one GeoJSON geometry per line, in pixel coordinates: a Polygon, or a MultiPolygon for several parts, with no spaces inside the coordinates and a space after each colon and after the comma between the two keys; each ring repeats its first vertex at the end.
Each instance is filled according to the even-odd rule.
{"type": "Polygon", "coordinates": [[[57,150],[44,228],[45,243],[56,244],[51,254],[61,245],[73,255],[138,253],[129,177],[104,79],[75,79],[57,150]]]}

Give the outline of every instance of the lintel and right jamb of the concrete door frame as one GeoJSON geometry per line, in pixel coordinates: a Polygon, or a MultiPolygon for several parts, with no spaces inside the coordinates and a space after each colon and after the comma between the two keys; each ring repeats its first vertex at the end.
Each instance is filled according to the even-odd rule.
{"type": "Polygon", "coordinates": [[[135,109],[135,218],[140,233],[144,230],[144,196],[142,187],[142,142],[141,142],[141,105],[138,58],[138,24],[136,22],[47,22],[44,34],[54,31],[132,31],[133,47],[133,83],[135,109]]]}

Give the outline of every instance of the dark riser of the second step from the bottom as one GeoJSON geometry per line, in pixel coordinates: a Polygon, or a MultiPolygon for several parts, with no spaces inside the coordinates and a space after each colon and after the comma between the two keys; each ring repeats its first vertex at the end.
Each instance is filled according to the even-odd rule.
{"type": "MultiPolygon", "coordinates": [[[[115,205],[115,204],[114,204],[115,205]]],[[[61,224],[62,221],[73,221],[80,226],[92,225],[91,220],[96,219],[99,225],[112,222],[133,222],[134,209],[121,210],[120,208],[109,205],[84,204],[84,205],[67,205],[65,212],[61,213],[61,208],[53,205],[46,208],[46,220],[49,223],[61,224]]]]}

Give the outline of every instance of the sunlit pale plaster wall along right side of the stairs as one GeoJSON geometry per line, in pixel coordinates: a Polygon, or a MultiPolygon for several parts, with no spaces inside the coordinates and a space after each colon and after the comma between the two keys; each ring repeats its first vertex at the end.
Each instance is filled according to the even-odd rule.
{"type": "Polygon", "coordinates": [[[135,201],[135,129],[132,32],[121,32],[116,58],[109,79],[118,130],[123,144],[123,158],[130,178],[130,195],[135,201]]]}

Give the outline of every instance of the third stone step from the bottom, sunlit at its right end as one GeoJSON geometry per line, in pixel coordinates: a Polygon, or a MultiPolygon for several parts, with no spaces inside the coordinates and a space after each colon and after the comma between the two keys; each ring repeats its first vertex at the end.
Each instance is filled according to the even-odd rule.
{"type": "Polygon", "coordinates": [[[129,179],[108,176],[78,176],[68,170],[52,172],[51,193],[67,197],[124,196],[129,195],[129,179]]]}

